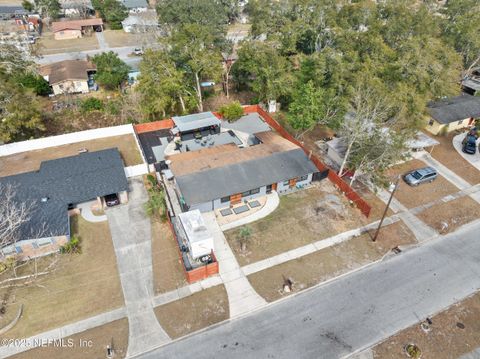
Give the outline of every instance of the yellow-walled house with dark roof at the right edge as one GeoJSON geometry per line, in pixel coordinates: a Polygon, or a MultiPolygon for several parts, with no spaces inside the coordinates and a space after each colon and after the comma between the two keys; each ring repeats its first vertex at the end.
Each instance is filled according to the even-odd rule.
{"type": "Polygon", "coordinates": [[[428,104],[426,130],[434,135],[463,129],[480,118],[480,97],[462,95],[428,104]]]}

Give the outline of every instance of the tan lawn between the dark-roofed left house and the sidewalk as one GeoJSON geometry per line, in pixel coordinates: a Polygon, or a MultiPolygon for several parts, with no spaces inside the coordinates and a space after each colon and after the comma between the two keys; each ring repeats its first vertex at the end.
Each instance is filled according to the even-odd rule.
{"type": "MultiPolygon", "coordinates": [[[[52,261],[58,262],[52,273],[29,286],[11,290],[8,300],[23,303],[23,315],[2,337],[29,337],[124,305],[108,223],[90,223],[78,216],[71,217],[71,223],[72,233],[81,238],[82,253],[50,255],[38,260],[39,271],[52,261]]],[[[19,275],[27,270],[24,267],[19,275]]],[[[1,289],[0,297],[7,291],[1,289]]],[[[11,310],[16,312],[16,306],[11,310]]],[[[0,319],[0,327],[6,323],[0,319]]]]}

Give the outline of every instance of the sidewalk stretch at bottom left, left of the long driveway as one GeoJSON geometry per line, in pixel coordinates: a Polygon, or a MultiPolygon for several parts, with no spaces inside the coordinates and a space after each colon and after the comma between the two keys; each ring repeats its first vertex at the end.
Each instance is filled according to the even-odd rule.
{"type": "MultiPolygon", "coordinates": [[[[100,325],[108,324],[115,320],[125,318],[126,315],[127,311],[125,307],[122,307],[112,310],[110,312],[96,315],[94,317],[80,320],[72,324],[64,325],[60,328],[55,328],[47,332],[34,335],[27,338],[25,340],[26,343],[21,343],[20,345],[0,346],[0,358],[6,358],[11,355],[25,352],[29,349],[33,349],[35,347],[35,344],[41,344],[42,341],[46,342],[48,340],[65,338],[74,334],[84,332],[85,330],[98,327],[100,325]]],[[[8,333],[6,337],[8,338],[8,333]]]]}

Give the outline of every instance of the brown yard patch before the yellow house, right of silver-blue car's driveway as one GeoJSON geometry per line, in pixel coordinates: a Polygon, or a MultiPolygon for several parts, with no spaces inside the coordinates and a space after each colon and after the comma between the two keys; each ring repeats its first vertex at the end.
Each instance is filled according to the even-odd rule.
{"type": "Polygon", "coordinates": [[[432,157],[471,185],[475,185],[480,182],[480,171],[466,161],[453,147],[452,140],[455,135],[455,132],[446,136],[432,136],[428,134],[428,136],[432,136],[440,142],[440,145],[433,148],[432,157]]]}

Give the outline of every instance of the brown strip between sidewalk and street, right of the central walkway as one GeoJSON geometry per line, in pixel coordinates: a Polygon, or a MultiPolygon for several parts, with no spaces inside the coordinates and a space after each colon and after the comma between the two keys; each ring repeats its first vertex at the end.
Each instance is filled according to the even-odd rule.
{"type": "Polygon", "coordinates": [[[370,235],[365,233],[335,246],[251,274],[248,280],[258,294],[272,302],[289,295],[283,291],[284,278],[293,282],[292,292],[298,292],[377,261],[396,246],[415,243],[415,237],[402,221],[384,227],[376,242],[372,242],[370,235]]]}

